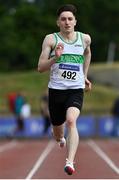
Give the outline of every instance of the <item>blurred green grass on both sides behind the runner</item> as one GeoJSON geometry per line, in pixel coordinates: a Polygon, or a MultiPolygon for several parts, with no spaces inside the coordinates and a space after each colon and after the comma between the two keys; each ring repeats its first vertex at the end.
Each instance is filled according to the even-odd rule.
{"type": "MultiPolygon", "coordinates": [[[[104,65],[91,65],[90,69],[102,69],[104,65]]],[[[105,67],[106,68],[106,67],[105,67]]],[[[109,68],[109,66],[107,66],[109,68]]],[[[111,67],[111,68],[117,68],[111,67]]],[[[36,71],[0,74],[0,114],[9,113],[7,96],[10,92],[21,92],[31,104],[32,114],[40,114],[40,96],[47,89],[49,73],[38,73],[36,71]]],[[[116,97],[119,96],[118,89],[93,84],[91,92],[85,93],[82,114],[109,114],[116,97]]]]}

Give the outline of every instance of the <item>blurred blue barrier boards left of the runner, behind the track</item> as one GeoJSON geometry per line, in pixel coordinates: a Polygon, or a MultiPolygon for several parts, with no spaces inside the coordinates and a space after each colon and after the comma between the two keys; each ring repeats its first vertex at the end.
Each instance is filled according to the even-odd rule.
{"type": "MultiPolygon", "coordinates": [[[[32,117],[24,120],[24,130],[14,133],[17,127],[15,117],[0,117],[0,137],[39,138],[44,136],[44,119],[32,117]]],[[[47,137],[51,136],[49,129],[47,137]]]]}

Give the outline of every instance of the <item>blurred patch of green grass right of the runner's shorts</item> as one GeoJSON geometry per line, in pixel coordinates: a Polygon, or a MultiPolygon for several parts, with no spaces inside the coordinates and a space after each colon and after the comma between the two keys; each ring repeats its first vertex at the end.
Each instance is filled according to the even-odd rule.
{"type": "Polygon", "coordinates": [[[93,84],[92,91],[85,94],[83,113],[110,114],[114,100],[118,95],[118,90],[114,88],[93,84]]]}

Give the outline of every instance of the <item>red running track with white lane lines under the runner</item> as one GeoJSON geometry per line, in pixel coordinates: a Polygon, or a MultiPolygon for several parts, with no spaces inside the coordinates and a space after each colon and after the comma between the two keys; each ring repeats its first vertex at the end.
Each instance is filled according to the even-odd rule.
{"type": "Polygon", "coordinates": [[[72,176],[65,158],[53,140],[1,140],[0,179],[119,179],[119,139],[80,140],[72,176]]]}

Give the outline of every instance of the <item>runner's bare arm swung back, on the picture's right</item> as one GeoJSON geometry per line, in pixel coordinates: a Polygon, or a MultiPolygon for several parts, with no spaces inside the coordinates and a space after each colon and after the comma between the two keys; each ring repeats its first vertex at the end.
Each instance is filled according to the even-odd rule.
{"type": "Polygon", "coordinates": [[[88,80],[88,70],[91,62],[91,49],[90,49],[90,44],[91,44],[91,37],[88,34],[84,35],[84,46],[85,46],[85,51],[84,51],[84,76],[85,76],[85,84],[87,90],[91,90],[91,82],[88,80]]]}

